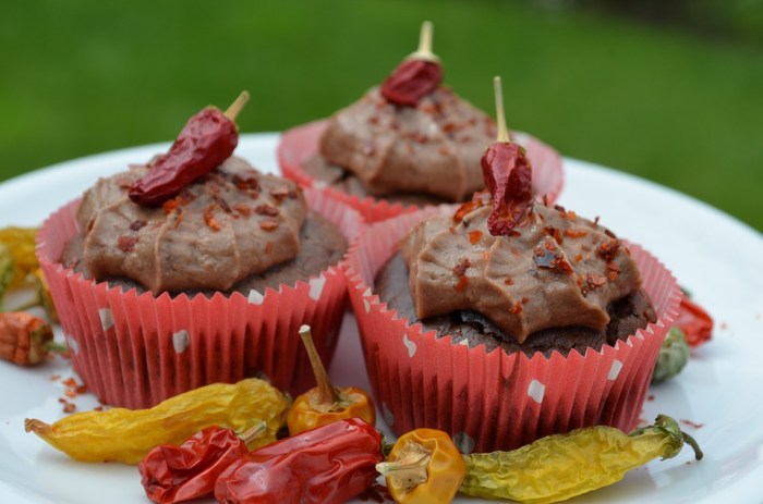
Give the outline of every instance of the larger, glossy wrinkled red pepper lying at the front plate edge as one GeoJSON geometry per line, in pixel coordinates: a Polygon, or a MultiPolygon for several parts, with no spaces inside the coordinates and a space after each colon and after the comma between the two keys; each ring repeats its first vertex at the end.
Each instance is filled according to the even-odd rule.
{"type": "Polygon", "coordinates": [[[263,446],[215,485],[221,503],[343,503],[368,489],[382,437],[360,418],[338,420],[263,446]]]}

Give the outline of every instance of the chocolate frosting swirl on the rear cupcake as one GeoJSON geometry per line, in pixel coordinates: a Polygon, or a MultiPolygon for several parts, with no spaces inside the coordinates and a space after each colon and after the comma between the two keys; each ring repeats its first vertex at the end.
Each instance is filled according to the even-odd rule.
{"type": "Polygon", "coordinates": [[[329,119],[319,149],[368,194],[462,201],[484,187],[480,159],[494,138],[493,120],[445,86],[415,108],[389,103],[374,87],[329,119]]]}

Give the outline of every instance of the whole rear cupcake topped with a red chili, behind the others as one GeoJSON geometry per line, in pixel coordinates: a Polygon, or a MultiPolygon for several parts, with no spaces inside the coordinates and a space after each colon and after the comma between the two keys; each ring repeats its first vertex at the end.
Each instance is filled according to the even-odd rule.
{"type": "MultiPolygon", "coordinates": [[[[283,174],[325,189],[370,222],[465,201],[482,189],[480,158],[495,123],[441,84],[431,40],[424,23],[419,50],[380,86],[328,120],[286,132],[278,147],[283,174]]],[[[517,139],[535,167],[535,193],[554,201],[562,184],[559,155],[530,135],[517,139]]]]}

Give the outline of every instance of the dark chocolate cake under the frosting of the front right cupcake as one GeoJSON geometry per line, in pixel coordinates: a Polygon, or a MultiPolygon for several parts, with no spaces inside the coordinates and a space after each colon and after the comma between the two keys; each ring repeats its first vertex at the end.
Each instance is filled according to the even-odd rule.
{"type": "Polygon", "coordinates": [[[408,267],[400,253],[392,256],[379,270],[375,286],[380,300],[386,303],[389,309],[414,323],[422,323],[424,331],[434,330],[438,337],[450,334],[453,343],[465,340],[470,348],[485,345],[485,349],[492,352],[500,347],[509,354],[524,352],[529,357],[536,352],[550,357],[554,351],[565,356],[573,349],[580,354],[585,354],[588,348],[598,351],[603,345],[614,345],[618,340],[625,340],[637,330],[646,327],[649,322],[656,321],[656,314],[649,297],[643,291],[638,291],[607,307],[610,321],[603,331],[577,327],[550,328],[530,334],[524,343],[520,344],[475,311],[455,311],[417,319],[408,286],[408,267]]]}

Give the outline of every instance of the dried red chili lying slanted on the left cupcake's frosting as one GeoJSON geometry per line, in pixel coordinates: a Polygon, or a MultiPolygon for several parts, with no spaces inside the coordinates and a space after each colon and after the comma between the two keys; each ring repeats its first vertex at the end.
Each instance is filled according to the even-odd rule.
{"type": "Polygon", "coordinates": [[[249,100],[243,91],[223,113],[207,107],[183,126],[170,150],[150,164],[150,171],[130,186],[130,199],[138,205],[161,205],[180,189],[230,158],[239,143],[233,122],[249,100]]]}

